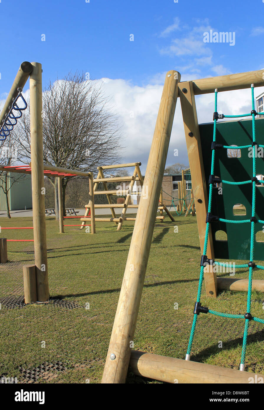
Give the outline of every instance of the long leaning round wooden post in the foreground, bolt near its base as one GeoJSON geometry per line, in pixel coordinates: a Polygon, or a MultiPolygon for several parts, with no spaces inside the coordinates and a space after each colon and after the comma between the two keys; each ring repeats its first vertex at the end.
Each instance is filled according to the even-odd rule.
{"type": "Polygon", "coordinates": [[[177,71],[166,74],[102,383],[125,383],[178,97],[178,80],[177,71]]]}

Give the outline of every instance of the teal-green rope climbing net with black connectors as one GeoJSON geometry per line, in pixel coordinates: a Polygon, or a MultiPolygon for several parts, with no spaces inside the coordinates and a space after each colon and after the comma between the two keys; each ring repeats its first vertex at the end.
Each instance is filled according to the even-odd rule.
{"type": "MultiPolygon", "coordinates": [[[[217,114],[217,90],[215,90],[215,114],[217,114]]],[[[251,98],[252,98],[252,112],[250,114],[243,114],[243,115],[221,115],[221,117],[218,118],[238,118],[238,117],[245,117],[245,116],[252,116],[252,131],[253,131],[253,141],[256,141],[255,135],[255,116],[257,114],[262,114],[262,113],[257,113],[255,111],[255,103],[254,103],[254,85],[251,85],[251,98]]],[[[217,114],[218,115],[218,114],[217,114]]],[[[214,134],[213,134],[213,141],[216,141],[216,121],[217,118],[215,118],[214,116],[214,134]]],[[[257,144],[257,146],[263,147],[263,145],[259,145],[257,144]]],[[[243,336],[243,345],[242,345],[242,353],[241,353],[241,364],[240,364],[240,370],[244,370],[245,367],[245,356],[246,356],[246,346],[247,346],[247,338],[248,338],[248,324],[250,320],[254,320],[257,321],[259,323],[264,323],[263,319],[259,319],[257,317],[252,317],[250,314],[250,305],[251,305],[251,293],[252,293],[252,278],[253,278],[253,268],[256,267],[258,269],[264,269],[264,266],[261,265],[255,265],[253,260],[254,260],[254,237],[255,237],[255,222],[260,222],[263,223],[264,221],[261,220],[257,220],[255,218],[255,205],[256,205],[256,157],[255,157],[255,149],[256,149],[256,145],[253,144],[252,145],[245,145],[245,146],[240,146],[237,147],[236,149],[241,149],[241,148],[249,148],[249,147],[253,147],[253,179],[250,181],[242,181],[242,182],[230,182],[230,181],[221,181],[225,184],[237,184],[237,185],[243,185],[243,184],[248,184],[248,183],[252,183],[252,218],[251,219],[245,219],[242,221],[232,221],[229,219],[222,219],[219,218],[218,220],[221,222],[225,222],[225,223],[250,223],[251,224],[251,235],[250,235],[250,262],[249,264],[241,264],[241,265],[233,265],[233,267],[236,268],[244,268],[244,267],[249,267],[249,275],[248,275],[248,296],[247,296],[247,310],[246,310],[246,314],[227,314],[227,313],[221,313],[221,312],[215,312],[214,310],[209,310],[207,308],[203,308],[203,309],[207,309],[207,313],[211,313],[214,314],[216,316],[220,316],[220,317],[228,317],[228,318],[232,318],[232,319],[244,319],[245,320],[245,328],[244,328],[244,336],[243,336]],[[249,266],[249,265],[252,266],[249,266]]],[[[234,148],[234,146],[223,146],[223,148],[234,148]]],[[[215,159],[215,150],[212,150],[212,163],[211,163],[211,175],[214,175],[214,159],[215,159]]],[[[258,181],[258,183],[261,183],[261,181],[258,181]]],[[[208,200],[208,213],[211,212],[211,208],[212,208],[212,188],[213,188],[213,183],[210,183],[209,185],[209,200],[208,200]]],[[[210,226],[210,221],[206,222],[206,231],[205,231],[205,243],[204,243],[204,250],[203,250],[203,255],[206,255],[207,252],[207,243],[208,243],[208,235],[209,235],[209,226],[210,226]]],[[[203,260],[203,257],[202,257],[203,260]]],[[[220,266],[228,266],[229,264],[225,264],[225,263],[221,263],[221,262],[214,262],[214,264],[216,265],[220,265],[220,266]]],[[[198,294],[197,294],[197,303],[200,304],[200,297],[201,297],[201,290],[202,290],[202,283],[203,283],[203,276],[204,276],[204,266],[206,266],[206,264],[202,264],[201,269],[200,269],[200,278],[199,278],[199,285],[198,285],[198,294]]],[[[194,311],[194,317],[193,317],[193,323],[192,323],[192,327],[191,327],[191,334],[190,334],[190,339],[189,339],[189,344],[188,344],[188,348],[187,348],[187,355],[186,355],[186,360],[190,359],[190,355],[191,355],[191,347],[193,344],[193,337],[194,337],[194,332],[195,332],[195,328],[196,328],[196,321],[197,321],[197,317],[198,314],[202,312],[202,310],[198,311],[198,313],[196,313],[196,309],[194,311]]]]}

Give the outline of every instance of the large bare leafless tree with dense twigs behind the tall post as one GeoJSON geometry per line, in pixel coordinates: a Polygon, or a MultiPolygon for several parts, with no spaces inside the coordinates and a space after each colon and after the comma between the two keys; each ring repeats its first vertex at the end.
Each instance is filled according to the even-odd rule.
{"type": "MultiPolygon", "coordinates": [[[[43,160],[63,168],[96,171],[102,164],[121,159],[122,135],[118,118],[109,108],[102,86],[86,80],[84,73],[68,73],[43,91],[43,160]]],[[[16,129],[17,130],[17,129],[16,129]]],[[[27,110],[22,130],[16,133],[23,162],[30,161],[30,116],[27,110]],[[21,139],[21,132],[23,139],[21,139]]],[[[63,178],[63,201],[71,177],[63,178]]],[[[57,178],[50,178],[55,189],[57,178]]],[[[56,212],[57,213],[57,212],[56,212]]]]}

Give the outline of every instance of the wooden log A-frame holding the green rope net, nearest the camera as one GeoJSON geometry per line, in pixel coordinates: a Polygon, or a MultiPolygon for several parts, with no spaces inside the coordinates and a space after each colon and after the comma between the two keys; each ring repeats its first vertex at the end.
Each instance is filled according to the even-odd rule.
{"type": "MultiPolygon", "coordinates": [[[[185,134],[188,135],[187,147],[192,183],[194,181],[193,195],[197,218],[200,221],[202,220],[200,214],[205,216],[207,195],[203,167],[196,166],[193,153],[193,151],[198,153],[200,164],[203,164],[194,95],[212,93],[216,88],[218,91],[249,88],[252,83],[255,87],[264,86],[262,70],[179,84],[178,81],[180,81],[180,74],[177,71],[168,71],[143,183],[143,187],[148,190],[148,196],[141,198],[139,203],[102,383],[125,383],[129,363],[136,374],[171,383],[175,383],[175,379],[178,379],[178,383],[248,383],[250,376],[253,378],[256,376],[235,369],[135,352],[130,347],[134,339],[178,94],[183,108],[185,134]],[[189,133],[193,133],[193,136],[189,133]],[[198,171],[198,176],[195,171],[198,171]],[[200,204],[203,204],[203,207],[200,207],[200,204]]],[[[203,224],[205,225],[205,218],[203,224]]],[[[203,235],[200,235],[201,244],[203,240],[203,235]]],[[[209,249],[213,252],[212,243],[210,246],[209,249]]],[[[210,284],[210,276],[208,282],[210,284]]],[[[212,289],[216,289],[214,280],[211,282],[214,285],[212,289]]]]}

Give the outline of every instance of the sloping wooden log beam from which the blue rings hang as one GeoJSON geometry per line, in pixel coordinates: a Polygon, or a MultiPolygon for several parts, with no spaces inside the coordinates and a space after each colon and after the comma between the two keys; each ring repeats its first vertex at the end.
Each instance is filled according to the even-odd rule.
{"type": "Polygon", "coordinates": [[[4,108],[2,109],[2,112],[0,114],[0,127],[2,127],[2,123],[11,109],[11,105],[13,104],[14,99],[16,99],[16,97],[18,96],[18,88],[24,88],[24,85],[27,82],[32,70],[33,66],[28,61],[24,61],[19,67],[14,83],[7,96],[4,108]]]}

